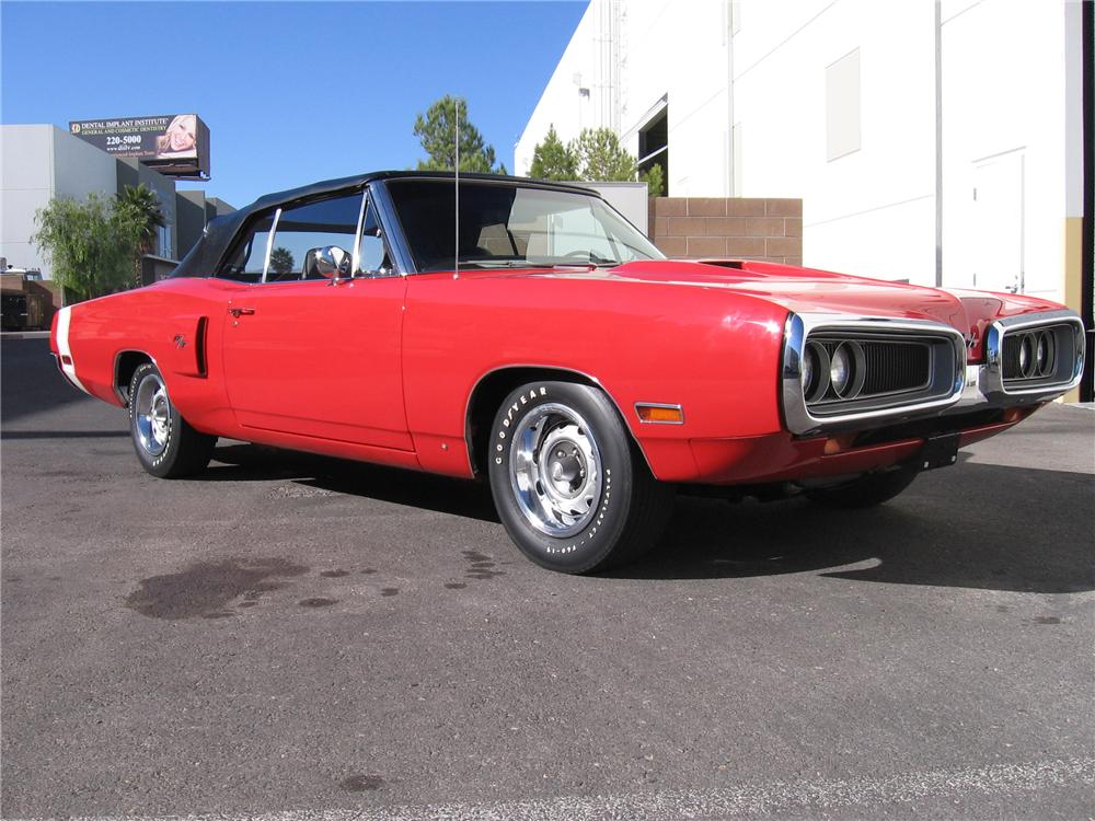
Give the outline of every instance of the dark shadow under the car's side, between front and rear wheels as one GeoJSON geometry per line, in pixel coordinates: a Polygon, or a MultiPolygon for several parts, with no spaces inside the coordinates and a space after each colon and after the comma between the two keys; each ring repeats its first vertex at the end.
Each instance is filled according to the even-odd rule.
{"type": "Polygon", "coordinates": [[[491,489],[482,483],[258,444],[232,443],[216,448],[214,464],[193,478],[203,482],[280,478],[337,494],[498,521],[491,489]]]}

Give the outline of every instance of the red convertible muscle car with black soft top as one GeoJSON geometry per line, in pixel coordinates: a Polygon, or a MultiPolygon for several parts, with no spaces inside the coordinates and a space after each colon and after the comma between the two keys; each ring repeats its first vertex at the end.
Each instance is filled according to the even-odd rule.
{"type": "Polygon", "coordinates": [[[217,437],[483,476],[529,558],[586,573],[680,488],[885,501],[1076,385],[1082,332],[1021,296],[666,259],[584,188],[387,172],[214,221],[51,347],[155,476],[217,437]]]}

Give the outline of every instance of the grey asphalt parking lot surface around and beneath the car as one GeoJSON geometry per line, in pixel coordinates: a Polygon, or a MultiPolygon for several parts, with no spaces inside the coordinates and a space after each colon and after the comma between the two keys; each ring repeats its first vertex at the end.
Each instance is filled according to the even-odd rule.
{"type": "Polygon", "coordinates": [[[221,442],[138,466],[2,352],[3,818],[1095,814],[1095,412],[875,510],[678,502],[523,560],[485,487],[221,442]]]}

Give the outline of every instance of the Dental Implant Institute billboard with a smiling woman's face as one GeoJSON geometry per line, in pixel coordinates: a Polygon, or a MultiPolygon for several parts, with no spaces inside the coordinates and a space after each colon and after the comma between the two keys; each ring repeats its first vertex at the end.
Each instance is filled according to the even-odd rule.
{"type": "Polygon", "coordinates": [[[209,129],[196,114],[74,120],[69,131],[108,154],[135,158],[161,174],[209,176],[209,129]]]}

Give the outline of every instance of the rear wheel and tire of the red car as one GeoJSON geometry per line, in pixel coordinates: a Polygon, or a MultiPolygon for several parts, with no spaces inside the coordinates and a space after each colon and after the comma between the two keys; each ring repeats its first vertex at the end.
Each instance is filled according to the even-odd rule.
{"type": "Polygon", "coordinates": [[[160,478],[205,470],[217,437],[199,433],[171,403],[159,369],[146,362],[129,382],[129,432],[141,467],[160,478]]]}

